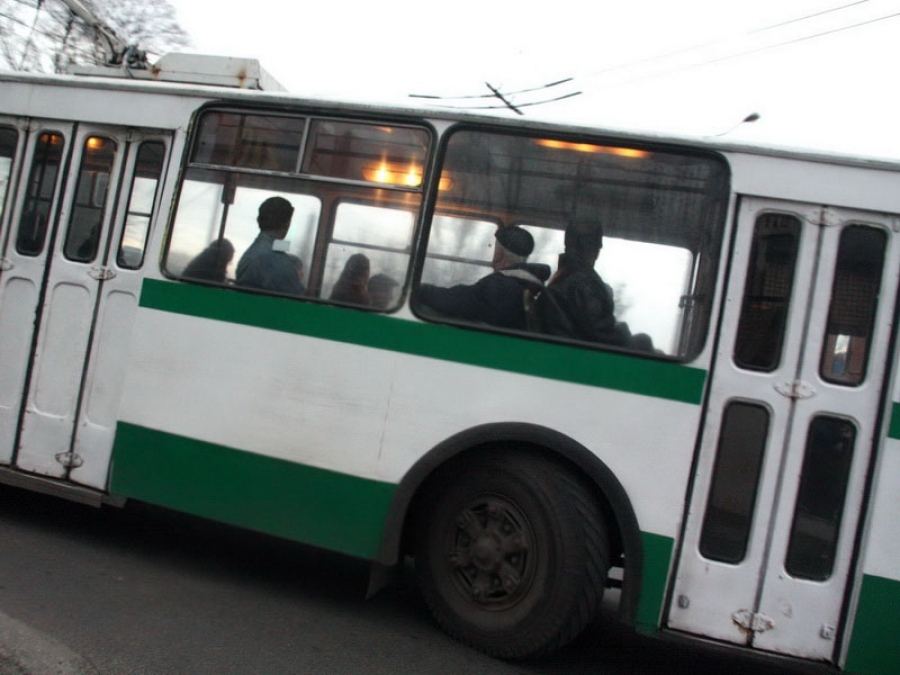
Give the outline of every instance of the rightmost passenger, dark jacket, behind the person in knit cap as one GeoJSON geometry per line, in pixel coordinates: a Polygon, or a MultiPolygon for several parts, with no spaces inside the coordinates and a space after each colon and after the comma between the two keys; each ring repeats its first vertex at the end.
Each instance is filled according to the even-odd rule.
{"type": "Polygon", "coordinates": [[[612,290],[594,270],[602,247],[599,223],[566,229],[559,268],[535,303],[544,333],[620,347],[630,343],[628,328],[616,322],[612,290]]]}

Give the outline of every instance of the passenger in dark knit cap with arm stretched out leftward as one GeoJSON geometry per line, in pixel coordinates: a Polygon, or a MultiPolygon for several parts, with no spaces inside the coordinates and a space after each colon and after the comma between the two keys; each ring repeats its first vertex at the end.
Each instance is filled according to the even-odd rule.
{"type": "Polygon", "coordinates": [[[526,263],[534,250],[527,230],[499,227],[494,237],[492,274],[470,286],[423,284],[418,299],[445,317],[525,330],[525,292],[537,295],[550,277],[550,268],[526,263]]]}

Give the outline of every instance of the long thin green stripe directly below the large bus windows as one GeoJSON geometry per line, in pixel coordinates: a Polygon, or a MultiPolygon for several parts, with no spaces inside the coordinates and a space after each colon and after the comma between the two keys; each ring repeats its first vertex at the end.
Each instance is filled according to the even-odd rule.
{"type": "Polygon", "coordinates": [[[699,404],[706,371],[669,361],[145,279],[141,307],[699,404]]]}

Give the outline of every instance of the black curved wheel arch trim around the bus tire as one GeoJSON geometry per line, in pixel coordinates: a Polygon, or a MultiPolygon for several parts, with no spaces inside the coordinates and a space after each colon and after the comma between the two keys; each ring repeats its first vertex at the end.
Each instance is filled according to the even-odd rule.
{"type": "MultiPolygon", "coordinates": [[[[613,471],[574,439],[553,429],[524,422],[484,424],[461,431],[434,446],[421,457],[397,485],[388,510],[376,564],[382,569],[396,565],[405,551],[404,539],[411,529],[413,509],[423,498],[421,489],[435,473],[453,462],[465,461],[465,455],[485,446],[518,444],[564,460],[581,474],[594,489],[598,504],[617,542],[616,552],[624,556],[619,618],[634,625],[643,569],[643,545],[637,516],[625,488],[613,471]]],[[[381,579],[384,575],[379,575],[381,579]]],[[[373,575],[370,592],[380,585],[373,575]]]]}

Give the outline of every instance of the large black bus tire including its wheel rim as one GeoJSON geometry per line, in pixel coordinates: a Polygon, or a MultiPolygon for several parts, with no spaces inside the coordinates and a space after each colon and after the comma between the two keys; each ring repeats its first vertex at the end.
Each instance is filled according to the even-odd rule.
{"type": "Polygon", "coordinates": [[[609,540],[585,485],[557,462],[491,453],[446,476],[421,519],[419,587],[450,635],[487,654],[555,651],[597,613],[609,540]]]}

